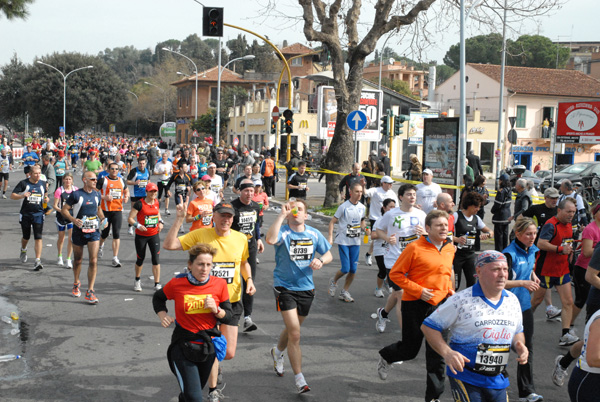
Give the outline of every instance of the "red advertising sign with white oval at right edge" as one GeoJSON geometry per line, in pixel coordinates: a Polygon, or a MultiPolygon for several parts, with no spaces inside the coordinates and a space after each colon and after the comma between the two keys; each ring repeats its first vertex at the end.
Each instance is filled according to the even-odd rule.
{"type": "Polygon", "coordinates": [[[600,144],[600,101],[559,103],[556,142],[600,144]]]}

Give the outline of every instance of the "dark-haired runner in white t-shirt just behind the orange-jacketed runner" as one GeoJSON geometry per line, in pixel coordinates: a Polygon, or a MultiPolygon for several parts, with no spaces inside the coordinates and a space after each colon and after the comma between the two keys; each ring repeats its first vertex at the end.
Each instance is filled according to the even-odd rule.
{"type": "MultiPolygon", "coordinates": [[[[417,190],[413,184],[403,184],[398,189],[400,207],[394,208],[378,220],[377,237],[389,244],[389,250],[383,258],[387,272],[396,263],[400,253],[411,242],[417,240],[425,233],[425,217],[427,214],[415,208],[417,190]]],[[[388,314],[398,305],[396,316],[398,323],[402,326],[402,313],[400,303],[402,300],[402,289],[391,282],[388,283],[394,291],[390,294],[385,307],[377,309],[377,330],[385,331],[386,323],[389,322],[388,314]]]]}

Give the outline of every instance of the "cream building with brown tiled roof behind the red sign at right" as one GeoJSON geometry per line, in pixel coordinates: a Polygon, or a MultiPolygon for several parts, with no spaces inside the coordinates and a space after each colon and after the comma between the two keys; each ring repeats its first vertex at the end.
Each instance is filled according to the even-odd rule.
{"type": "MultiPolygon", "coordinates": [[[[500,66],[468,63],[465,73],[467,118],[477,111],[482,122],[498,122],[500,66]]],[[[515,117],[517,142],[511,147],[504,134],[502,165],[514,162],[531,169],[541,163],[543,169],[550,169],[553,165],[551,136],[544,138],[544,119],[556,121],[559,102],[600,100],[600,81],[580,71],[507,66],[503,97],[505,132],[511,127],[509,117],[515,117]]],[[[459,110],[459,101],[460,78],[457,72],[438,86],[434,102],[442,112],[450,115],[459,110]]],[[[475,153],[483,159],[483,147],[489,145],[480,143],[477,146],[470,133],[467,134],[467,141],[472,143],[475,153]]],[[[557,144],[556,150],[566,155],[570,163],[594,160],[596,157],[596,150],[591,145],[572,147],[557,144]]]]}

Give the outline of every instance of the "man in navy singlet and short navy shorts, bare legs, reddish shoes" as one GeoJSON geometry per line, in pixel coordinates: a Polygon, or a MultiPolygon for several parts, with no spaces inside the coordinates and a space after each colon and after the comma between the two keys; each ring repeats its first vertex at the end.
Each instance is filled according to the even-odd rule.
{"type": "Polygon", "coordinates": [[[87,246],[89,255],[88,266],[88,290],[85,292],[85,300],[90,304],[97,304],[94,284],[98,271],[98,249],[100,242],[100,231],[104,229],[107,222],[100,208],[100,194],[96,191],[96,174],[85,172],[83,174],[83,188],[73,191],[62,207],[61,214],[65,220],[73,223],[73,255],[75,264],[73,266],[73,291],[74,297],[81,296],[81,263],[83,261],[83,247],[87,246]],[[74,216],[71,214],[71,209],[74,216]]]}

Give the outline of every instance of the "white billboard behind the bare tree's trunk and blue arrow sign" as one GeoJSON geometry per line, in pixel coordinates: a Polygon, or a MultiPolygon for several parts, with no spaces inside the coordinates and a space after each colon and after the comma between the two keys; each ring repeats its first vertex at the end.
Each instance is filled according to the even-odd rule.
{"type": "MultiPolygon", "coordinates": [[[[320,140],[331,139],[335,131],[337,120],[337,100],[333,87],[320,86],[318,88],[319,106],[317,109],[317,137],[320,140]]],[[[356,133],[357,141],[379,141],[379,118],[381,117],[381,105],[383,102],[383,91],[375,89],[363,89],[360,96],[358,110],[367,115],[366,127],[356,133]]],[[[348,113],[351,110],[347,111],[348,113]]]]}

